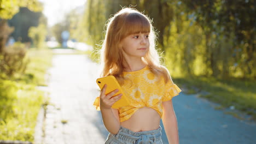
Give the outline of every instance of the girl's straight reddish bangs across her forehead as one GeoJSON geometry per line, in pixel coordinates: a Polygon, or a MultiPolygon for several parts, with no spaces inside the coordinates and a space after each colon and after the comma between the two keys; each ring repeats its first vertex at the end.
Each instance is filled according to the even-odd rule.
{"type": "Polygon", "coordinates": [[[129,13],[122,28],[123,38],[136,33],[150,33],[150,22],[139,13],[129,13]]]}

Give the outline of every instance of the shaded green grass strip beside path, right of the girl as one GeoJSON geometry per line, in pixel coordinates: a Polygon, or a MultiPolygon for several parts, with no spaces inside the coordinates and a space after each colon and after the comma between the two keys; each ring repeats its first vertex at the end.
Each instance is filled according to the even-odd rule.
{"type": "MultiPolygon", "coordinates": [[[[173,80],[181,87],[188,89],[188,94],[209,92],[200,94],[200,97],[214,101],[221,106],[216,109],[224,109],[235,106],[236,110],[247,113],[256,119],[256,82],[241,79],[215,79],[213,77],[179,77],[173,80]]],[[[237,117],[237,116],[236,116],[237,117]]]]}

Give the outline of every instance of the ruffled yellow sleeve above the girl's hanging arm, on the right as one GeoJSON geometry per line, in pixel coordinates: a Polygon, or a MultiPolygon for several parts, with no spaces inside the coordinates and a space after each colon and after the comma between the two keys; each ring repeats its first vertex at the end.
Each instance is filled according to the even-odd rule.
{"type": "Polygon", "coordinates": [[[173,97],[179,94],[181,92],[181,89],[171,81],[168,81],[165,84],[165,93],[164,97],[162,98],[162,101],[168,101],[171,100],[173,97]]]}

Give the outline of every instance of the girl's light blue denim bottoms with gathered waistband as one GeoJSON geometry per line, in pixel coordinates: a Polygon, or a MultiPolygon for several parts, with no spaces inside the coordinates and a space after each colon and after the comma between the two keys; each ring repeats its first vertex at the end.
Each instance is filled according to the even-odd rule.
{"type": "Polygon", "coordinates": [[[109,133],[105,144],[162,144],[161,126],[156,130],[133,132],[120,127],[117,134],[109,133]]]}

